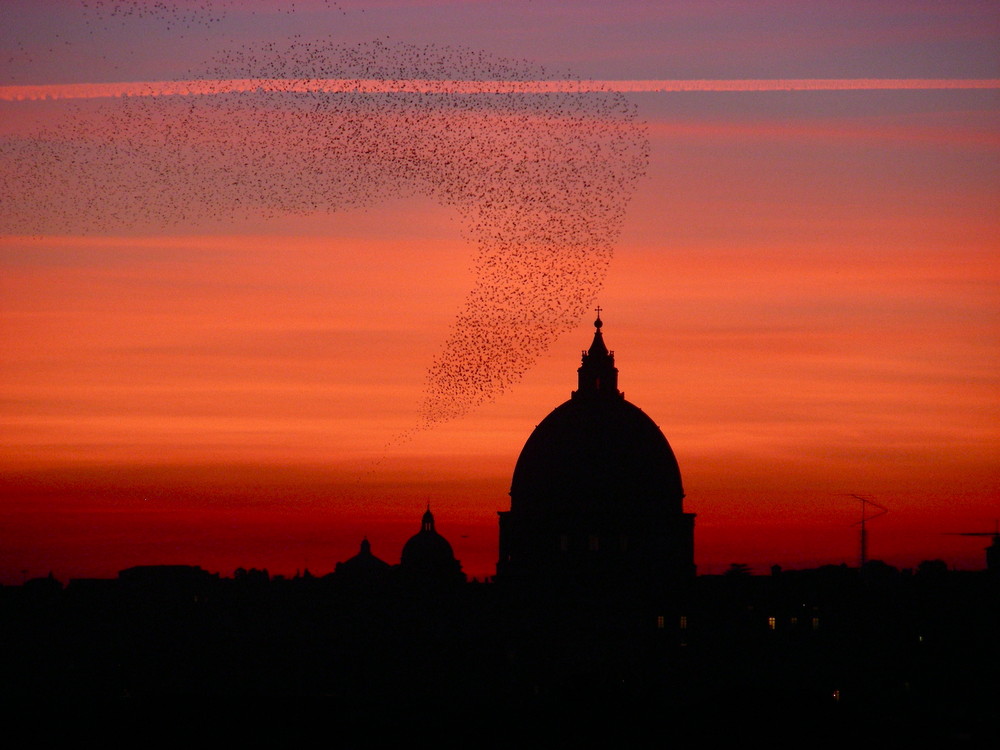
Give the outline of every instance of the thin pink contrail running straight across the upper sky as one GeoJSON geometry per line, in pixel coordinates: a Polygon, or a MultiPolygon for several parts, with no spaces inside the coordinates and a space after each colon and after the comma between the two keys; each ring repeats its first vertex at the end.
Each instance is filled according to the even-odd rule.
{"type": "Polygon", "coordinates": [[[0,86],[0,101],[196,96],[240,92],[418,93],[418,94],[575,94],[680,93],[688,91],[931,91],[1000,89],[1000,78],[764,78],[642,81],[471,81],[352,78],[228,78],[186,81],[55,83],[0,86]]]}

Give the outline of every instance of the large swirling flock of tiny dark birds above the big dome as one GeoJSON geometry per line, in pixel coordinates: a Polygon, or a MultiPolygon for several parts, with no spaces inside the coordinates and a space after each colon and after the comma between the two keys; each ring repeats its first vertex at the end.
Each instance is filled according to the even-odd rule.
{"type": "MultiPolygon", "coordinates": [[[[203,2],[209,18],[224,5],[203,2]]],[[[161,20],[171,6],[89,5],[161,20]]],[[[463,47],[291,38],[222,51],[186,78],[211,92],[225,79],[552,76],[525,60],[463,47]]],[[[494,399],[587,314],[649,149],[634,106],[605,91],[279,87],[59,107],[59,117],[27,137],[0,141],[4,234],[197,227],[336,212],[392,196],[450,207],[473,248],[476,281],[428,368],[414,430],[494,399]]]]}

